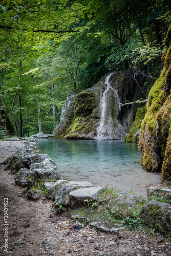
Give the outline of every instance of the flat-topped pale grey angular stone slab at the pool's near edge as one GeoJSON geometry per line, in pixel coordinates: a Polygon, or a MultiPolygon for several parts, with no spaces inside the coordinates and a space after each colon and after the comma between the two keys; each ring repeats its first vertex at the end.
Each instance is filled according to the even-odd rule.
{"type": "Polygon", "coordinates": [[[79,188],[69,193],[71,206],[75,204],[83,204],[84,200],[89,199],[92,201],[97,200],[97,196],[101,191],[104,190],[104,187],[84,187],[79,188]]]}

